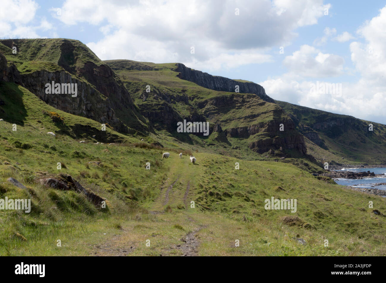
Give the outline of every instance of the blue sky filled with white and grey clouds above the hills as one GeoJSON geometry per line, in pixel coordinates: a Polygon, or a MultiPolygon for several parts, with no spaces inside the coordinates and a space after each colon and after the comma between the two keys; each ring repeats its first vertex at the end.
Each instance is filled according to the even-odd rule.
{"type": "Polygon", "coordinates": [[[2,0],[0,37],[68,38],[102,60],[181,62],[386,124],[386,2],[2,0]]]}

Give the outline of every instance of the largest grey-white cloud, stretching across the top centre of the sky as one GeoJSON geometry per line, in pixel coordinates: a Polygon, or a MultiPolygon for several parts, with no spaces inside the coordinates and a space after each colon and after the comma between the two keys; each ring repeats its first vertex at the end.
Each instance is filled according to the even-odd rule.
{"type": "Polygon", "coordinates": [[[70,26],[103,23],[99,27],[103,39],[87,44],[103,60],[185,62],[215,70],[271,60],[266,54],[269,48],[288,45],[297,36],[295,29],[316,24],[325,7],[330,5],[322,0],[110,1],[108,5],[102,0],[67,0],[61,16],[53,16],[70,26]],[[195,54],[190,53],[192,46],[195,54]],[[103,47],[105,53],[100,52],[103,47]]]}

